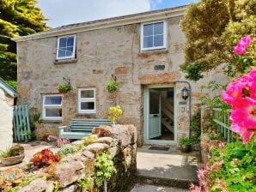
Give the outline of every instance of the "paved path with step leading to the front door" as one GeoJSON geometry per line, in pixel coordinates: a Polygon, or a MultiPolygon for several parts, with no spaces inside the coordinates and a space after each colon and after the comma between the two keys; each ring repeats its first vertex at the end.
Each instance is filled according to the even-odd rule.
{"type": "Polygon", "coordinates": [[[197,183],[198,160],[199,152],[180,153],[174,148],[149,150],[149,146],[138,148],[136,182],[139,184],[131,191],[187,191],[190,183],[197,183]]]}

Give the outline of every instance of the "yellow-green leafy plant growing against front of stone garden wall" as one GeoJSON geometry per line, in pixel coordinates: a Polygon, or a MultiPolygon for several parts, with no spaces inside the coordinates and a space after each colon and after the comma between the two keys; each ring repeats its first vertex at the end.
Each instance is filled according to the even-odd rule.
{"type": "Polygon", "coordinates": [[[103,181],[109,181],[113,174],[116,173],[113,159],[108,152],[101,152],[96,157],[95,183],[97,187],[101,187],[103,181]]]}

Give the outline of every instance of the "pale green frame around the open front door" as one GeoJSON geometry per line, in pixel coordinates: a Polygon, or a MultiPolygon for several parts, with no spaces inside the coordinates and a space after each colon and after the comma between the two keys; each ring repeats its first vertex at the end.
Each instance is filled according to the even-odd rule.
{"type": "Polygon", "coordinates": [[[174,84],[164,85],[149,85],[144,87],[144,102],[143,102],[143,115],[144,115],[144,142],[149,144],[176,144],[177,143],[177,106],[176,104],[176,88],[174,84]],[[165,140],[150,140],[149,139],[149,89],[151,88],[174,88],[174,141],[165,140]]]}

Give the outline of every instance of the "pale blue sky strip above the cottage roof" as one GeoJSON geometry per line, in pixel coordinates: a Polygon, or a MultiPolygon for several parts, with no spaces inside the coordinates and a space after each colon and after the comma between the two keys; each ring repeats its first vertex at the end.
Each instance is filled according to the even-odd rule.
{"type": "Polygon", "coordinates": [[[59,27],[196,2],[198,0],[39,0],[37,6],[50,19],[48,26],[59,27]]]}

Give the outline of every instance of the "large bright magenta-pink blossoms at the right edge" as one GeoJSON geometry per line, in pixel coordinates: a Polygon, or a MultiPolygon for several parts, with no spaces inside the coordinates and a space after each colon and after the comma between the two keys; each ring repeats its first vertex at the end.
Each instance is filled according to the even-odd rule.
{"type": "MultiPolygon", "coordinates": [[[[244,54],[251,42],[250,36],[241,38],[235,53],[244,54]]],[[[230,82],[227,91],[222,92],[222,100],[232,106],[231,129],[241,135],[246,144],[256,129],[256,68],[230,82]]]]}

